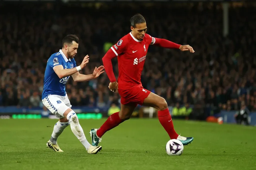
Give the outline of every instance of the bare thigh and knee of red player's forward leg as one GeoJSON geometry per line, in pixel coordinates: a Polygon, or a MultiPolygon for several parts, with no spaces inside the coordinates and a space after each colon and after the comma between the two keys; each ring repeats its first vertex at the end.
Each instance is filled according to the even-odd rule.
{"type": "Polygon", "coordinates": [[[160,97],[160,96],[158,96],[154,93],[150,93],[147,96],[147,98],[145,98],[142,105],[153,107],[157,110],[164,110],[168,107],[167,103],[166,103],[166,100],[163,97],[160,97]]]}

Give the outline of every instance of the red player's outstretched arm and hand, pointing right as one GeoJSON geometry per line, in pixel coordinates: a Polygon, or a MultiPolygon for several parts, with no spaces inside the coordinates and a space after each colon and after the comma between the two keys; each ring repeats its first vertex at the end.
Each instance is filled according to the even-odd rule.
{"type": "Polygon", "coordinates": [[[151,45],[158,45],[164,48],[177,48],[177,49],[180,49],[181,51],[190,51],[190,53],[195,52],[190,45],[180,45],[162,38],[152,37],[151,45]]]}

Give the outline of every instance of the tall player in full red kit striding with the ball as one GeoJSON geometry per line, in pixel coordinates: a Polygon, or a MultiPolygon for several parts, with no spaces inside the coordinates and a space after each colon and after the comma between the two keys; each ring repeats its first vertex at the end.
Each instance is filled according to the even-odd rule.
{"type": "Polygon", "coordinates": [[[106,74],[110,79],[109,89],[111,91],[118,89],[121,96],[121,110],[110,115],[99,129],[91,129],[92,145],[98,146],[104,133],[130,119],[137,104],[156,108],[159,122],[170,139],[178,139],[183,145],[188,145],[194,138],[183,137],[175,132],[165,99],[142,87],[141,72],[150,45],[177,48],[181,51],[190,51],[190,53],[195,51],[189,45],[179,45],[146,34],[146,21],[140,14],[134,15],[130,21],[132,31],[113,45],[102,58],[106,74]],[[118,82],[116,82],[111,62],[111,59],[115,57],[118,57],[118,82]]]}

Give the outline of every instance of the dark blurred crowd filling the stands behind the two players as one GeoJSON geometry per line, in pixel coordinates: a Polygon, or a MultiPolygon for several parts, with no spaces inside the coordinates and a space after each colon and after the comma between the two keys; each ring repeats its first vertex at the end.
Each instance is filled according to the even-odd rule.
{"type": "MultiPolygon", "coordinates": [[[[67,34],[80,38],[75,59],[80,64],[88,54],[90,62],[81,72],[91,74],[102,64],[104,46],[129,33],[130,17],[140,12],[148,34],[189,44],[195,50],[190,54],[151,46],[141,77],[144,88],[164,97],[169,106],[188,103],[238,110],[245,101],[250,111],[256,110],[255,8],[231,7],[229,35],[223,37],[220,6],[159,3],[137,10],[138,6],[129,6],[126,13],[122,11],[127,7],[117,4],[76,6],[76,12],[63,13],[71,7],[46,3],[1,14],[0,106],[42,106],[47,60],[61,49],[67,34]],[[156,10],[161,12],[152,12],[156,10]]],[[[117,76],[117,59],[112,63],[117,76]]],[[[104,73],[89,82],[69,80],[66,91],[72,106],[104,107],[119,102],[119,94],[111,93],[108,84],[104,73]]]]}

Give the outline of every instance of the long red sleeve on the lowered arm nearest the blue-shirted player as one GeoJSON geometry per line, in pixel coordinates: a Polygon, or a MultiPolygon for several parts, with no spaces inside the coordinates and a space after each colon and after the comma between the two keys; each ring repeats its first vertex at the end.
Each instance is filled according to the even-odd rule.
{"type": "Polygon", "coordinates": [[[110,82],[116,81],[111,60],[119,54],[124,53],[124,51],[126,50],[126,44],[128,43],[128,41],[126,41],[126,38],[122,39],[119,40],[115,45],[113,45],[102,58],[105,72],[108,75],[110,82]]]}

